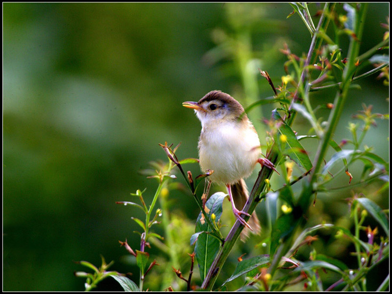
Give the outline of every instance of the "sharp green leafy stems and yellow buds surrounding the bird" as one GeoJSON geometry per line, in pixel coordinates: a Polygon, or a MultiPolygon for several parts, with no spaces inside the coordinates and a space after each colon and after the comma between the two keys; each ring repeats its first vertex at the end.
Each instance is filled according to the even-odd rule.
{"type": "MultiPolygon", "coordinates": [[[[315,205],[318,193],[328,195],[331,191],[364,187],[375,181],[385,182],[383,189],[389,187],[389,164],[374,153],[370,147],[362,147],[364,137],[370,127],[376,124],[376,119],[389,118],[388,115],[374,114],[371,106],[363,105],[363,110],[354,115],[355,119],[363,123],[362,129],[360,130],[355,123],[349,123],[348,129],[352,138],[339,144],[334,139],[353,82],[374,73],[374,71],[369,71],[361,76],[356,75],[361,66],[375,60],[385,64],[383,67],[379,66],[377,71],[389,66],[388,58],[375,59],[373,57],[371,59],[374,56],[374,49],[369,49],[362,55],[359,54],[360,40],[367,15],[367,3],[343,4],[345,11],[343,15],[338,15],[336,4],[325,3],[324,8],[318,13],[318,25],[314,25],[314,17],[310,15],[307,3],[291,3],[291,5],[294,8],[293,15],[299,16],[311,33],[309,52],[306,56],[298,57],[286,46],[282,52],[288,58],[285,64],[287,75],[282,77],[282,85],[275,88],[269,74],[260,70],[260,73],[268,79],[275,95],[273,98],[252,101],[248,108],[248,110],[253,110],[267,103],[279,104],[272,111],[271,121],[267,122],[270,129],[266,154],[275,166],[282,167],[284,183],[270,191],[272,172],[263,167],[244,207],[244,210],[251,214],[261,199],[266,199],[268,202],[267,207],[270,212],[267,221],[270,227],[263,233],[266,237],[263,244],[269,248],[269,254],[257,254],[247,259],[238,258],[233,273],[229,277],[224,277],[220,285],[215,285],[223,265],[228,262],[227,258],[236,244],[243,226],[236,221],[227,236],[223,237],[221,218],[223,200],[226,195],[218,192],[208,197],[210,193],[208,176],[213,171],[194,178],[191,172],[185,172],[183,165],[197,164],[197,160],[178,160],[175,154],[178,146],[172,148],[171,145],[165,143],[160,146],[168,156],[169,163],[162,166],[156,174],[150,176],[159,181],[151,205],[147,208],[143,200],[143,193],[139,190],[136,196],[140,198],[142,205],[134,202],[119,202],[137,207],[146,214],[146,221],[132,218],[143,229],[143,232],[140,233],[141,250],[134,251],[126,242],[122,243],[128,252],[136,258],[136,264],[140,270],[139,290],[144,289],[145,277],[156,265],[154,260],[146,269],[149,263],[149,254],[145,251],[147,240],[154,237],[160,238],[158,234],[150,232],[152,225],[159,223],[157,220],[160,217],[160,210],[157,210],[154,217],[152,217],[152,210],[162,189],[168,187],[168,182],[176,178],[172,173],[174,167],[182,175],[183,181],[200,209],[196,220],[195,234],[190,237],[190,244],[195,244],[195,255],[190,254],[192,258],[189,278],[184,278],[182,272],[173,267],[176,275],[187,283],[188,290],[192,284],[193,256],[196,256],[201,280],[201,285],[195,285],[195,287],[200,287],[203,290],[226,290],[235,280],[246,274],[245,282],[240,289],[263,291],[284,291],[290,287],[300,287],[311,291],[336,289],[367,291],[368,273],[389,259],[388,216],[366,195],[359,196],[354,193],[346,200],[346,208],[351,211],[353,233],[350,228],[335,223],[322,222],[312,225],[308,221],[311,200],[314,199],[313,204],[315,205]],[[332,33],[329,33],[328,30],[330,24],[333,26],[332,33]],[[342,35],[349,39],[347,52],[343,52],[340,46],[342,35]],[[343,55],[346,57],[342,58],[343,55]],[[311,101],[310,93],[323,91],[326,89],[325,87],[336,90],[334,102],[312,106],[311,102],[313,101],[311,101]],[[323,121],[323,118],[318,116],[318,111],[321,108],[329,111],[327,121],[323,121]],[[293,130],[294,120],[297,116],[302,116],[309,123],[308,134],[299,135],[293,130]],[[313,160],[302,145],[302,142],[308,139],[317,140],[318,147],[313,160]],[[347,144],[352,147],[346,148],[347,144]],[[328,160],[327,151],[333,152],[328,160]],[[350,172],[354,162],[364,163],[360,179],[354,178],[350,172]],[[293,163],[296,165],[295,168],[300,171],[294,180],[292,179],[293,163]],[[335,171],[335,167],[338,167],[337,171],[335,171]],[[335,184],[336,177],[340,175],[349,177],[343,187],[338,187],[335,184]],[[205,179],[206,186],[203,194],[198,196],[197,188],[205,179]],[[297,182],[302,183],[299,189],[294,187],[297,182]],[[331,183],[334,188],[330,188],[331,183]],[[376,221],[376,227],[372,228],[370,224],[364,225],[368,221],[368,214],[376,221]],[[151,218],[152,220],[150,220],[151,218]],[[378,226],[383,229],[383,235],[379,239],[376,238],[381,234],[378,226]],[[366,241],[363,240],[361,231],[366,232],[366,241]],[[355,267],[329,256],[322,248],[320,250],[319,246],[314,245],[320,240],[319,236],[315,235],[316,232],[326,234],[331,240],[348,241],[354,245],[355,251],[352,254],[357,259],[355,267]],[[310,253],[305,257],[298,253],[305,250],[304,248],[310,248],[310,253]],[[323,274],[325,272],[326,275],[323,274]],[[324,289],[325,285],[327,285],[326,289],[324,289]]],[[[230,46],[235,46],[233,44],[238,45],[237,42],[241,40],[240,36],[243,36],[243,25],[243,23],[233,23],[235,32],[230,37],[228,35],[225,35],[226,38],[222,37],[220,45],[224,45],[226,50],[227,46],[231,48],[230,46]]],[[[383,40],[382,44],[386,46],[388,40],[383,40]]],[[[379,47],[379,44],[375,47],[379,47]]],[[[247,53],[249,53],[248,49],[245,50],[247,53]]],[[[246,95],[252,96],[257,93],[257,90],[252,88],[251,81],[245,78],[248,76],[248,72],[246,65],[242,63],[244,55],[239,56],[239,52],[235,50],[228,50],[228,52],[233,55],[234,60],[238,61],[238,66],[244,77],[246,95]]],[[[90,266],[90,268],[93,268],[96,273],[104,273],[95,267],[90,266]]],[[[90,282],[93,281],[93,284],[97,280],[91,276],[88,279],[90,282]]],[[[134,283],[124,281],[124,278],[118,276],[116,279],[122,286],[124,283],[126,284],[125,287],[123,286],[124,289],[135,289],[134,283]]],[[[378,289],[385,290],[388,281],[389,275],[385,274],[378,289]]]]}

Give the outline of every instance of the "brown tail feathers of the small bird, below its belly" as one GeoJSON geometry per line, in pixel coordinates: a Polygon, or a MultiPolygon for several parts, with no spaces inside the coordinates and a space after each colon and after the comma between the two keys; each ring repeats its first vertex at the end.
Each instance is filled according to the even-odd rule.
{"type": "MultiPolygon", "coordinates": [[[[244,179],[241,179],[239,182],[231,185],[230,187],[236,208],[238,210],[242,210],[249,197],[248,189],[246,188],[244,179]]],[[[260,221],[257,218],[256,211],[252,213],[250,219],[248,220],[248,224],[253,229],[253,231],[251,231],[247,227],[243,229],[243,231],[241,232],[241,241],[243,242],[245,242],[246,238],[249,236],[249,232],[255,235],[260,233],[260,221]]]]}

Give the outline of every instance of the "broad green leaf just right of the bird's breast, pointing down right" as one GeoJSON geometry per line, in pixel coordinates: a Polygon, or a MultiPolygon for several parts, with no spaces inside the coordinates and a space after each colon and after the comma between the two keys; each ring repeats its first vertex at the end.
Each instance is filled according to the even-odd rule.
{"type": "MultiPolygon", "coordinates": [[[[285,135],[287,138],[287,142],[284,143],[285,146],[282,148],[282,152],[289,156],[297,165],[303,167],[305,170],[309,171],[312,169],[312,162],[310,161],[304,147],[302,147],[302,145],[299,143],[291,127],[282,120],[276,109],[272,111],[272,117],[274,120],[281,123],[278,131],[281,135],[285,135]]],[[[276,142],[282,144],[279,139],[276,139],[276,142]]]]}

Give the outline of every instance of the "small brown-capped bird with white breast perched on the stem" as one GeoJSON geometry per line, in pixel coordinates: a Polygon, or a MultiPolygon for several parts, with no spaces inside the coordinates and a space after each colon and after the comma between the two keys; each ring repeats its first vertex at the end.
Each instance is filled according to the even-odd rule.
{"type": "MultiPolygon", "coordinates": [[[[252,214],[249,223],[241,217],[250,217],[243,211],[248,198],[244,178],[253,172],[257,163],[273,170],[275,168],[268,159],[259,158],[259,136],[244,108],[236,99],[221,91],[211,91],[198,102],[187,101],[182,105],[194,109],[201,122],[198,142],[201,170],[214,171],[209,179],[226,186],[235,217],[258,234],[260,223],[256,213],[252,214]]],[[[247,235],[245,229],[241,238],[244,240],[247,235]]]]}

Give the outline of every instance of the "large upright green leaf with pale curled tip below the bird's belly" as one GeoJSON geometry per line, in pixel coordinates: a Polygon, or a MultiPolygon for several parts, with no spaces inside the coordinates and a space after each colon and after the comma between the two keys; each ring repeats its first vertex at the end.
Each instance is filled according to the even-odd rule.
{"type": "MultiPolygon", "coordinates": [[[[218,222],[222,215],[222,202],[226,194],[222,192],[218,192],[213,194],[206,202],[206,213],[209,215],[211,219],[211,214],[215,214],[215,221],[218,222]]],[[[196,236],[196,245],[195,245],[195,253],[196,253],[196,260],[200,270],[200,277],[204,280],[205,275],[207,274],[208,270],[211,267],[212,262],[216,254],[218,253],[219,246],[221,243],[219,240],[211,234],[203,233],[203,232],[211,232],[211,228],[208,223],[204,220],[204,216],[200,212],[197,221],[196,221],[196,228],[195,232],[199,233],[196,236]]],[[[195,238],[195,235],[193,235],[195,238]]],[[[191,240],[191,242],[193,239],[191,240]]]]}

